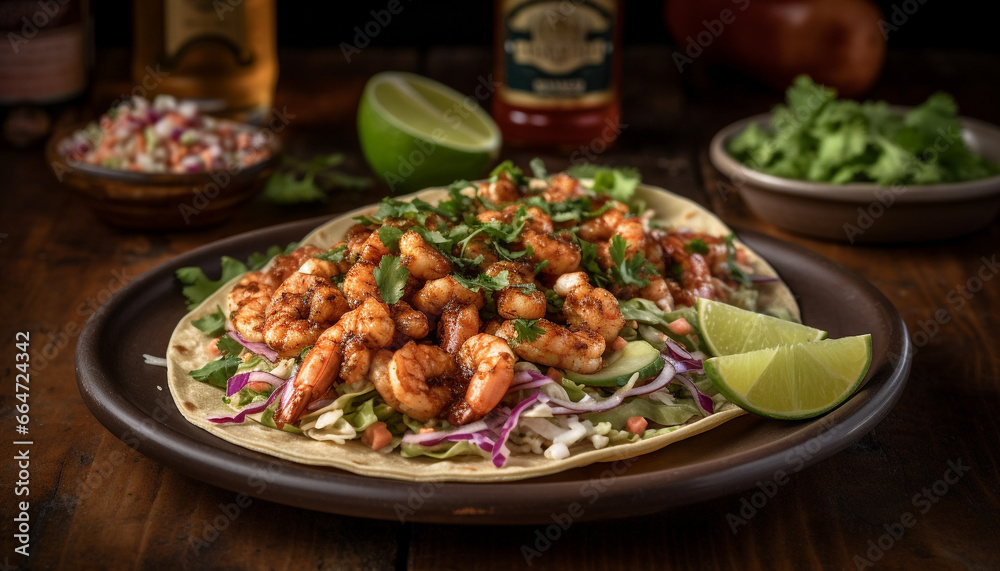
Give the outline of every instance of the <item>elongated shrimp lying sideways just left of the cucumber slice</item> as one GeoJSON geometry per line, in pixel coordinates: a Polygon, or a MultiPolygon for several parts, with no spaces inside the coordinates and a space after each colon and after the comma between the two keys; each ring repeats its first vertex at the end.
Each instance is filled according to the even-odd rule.
{"type": "Polygon", "coordinates": [[[542,333],[534,341],[518,341],[513,321],[505,321],[496,335],[513,341],[514,352],[533,363],[578,373],[596,373],[601,369],[605,342],[599,333],[589,329],[573,331],[547,319],[539,319],[535,326],[542,333]]]}

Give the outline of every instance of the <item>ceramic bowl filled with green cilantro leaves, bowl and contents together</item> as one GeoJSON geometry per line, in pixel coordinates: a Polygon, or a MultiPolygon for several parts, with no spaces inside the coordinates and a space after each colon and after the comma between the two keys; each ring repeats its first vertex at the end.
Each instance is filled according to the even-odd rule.
{"type": "Polygon", "coordinates": [[[913,108],[857,103],[803,77],[787,97],[710,144],[757,216],[853,244],[953,238],[1000,211],[1000,129],[957,116],[950,96],[913,108]]]}

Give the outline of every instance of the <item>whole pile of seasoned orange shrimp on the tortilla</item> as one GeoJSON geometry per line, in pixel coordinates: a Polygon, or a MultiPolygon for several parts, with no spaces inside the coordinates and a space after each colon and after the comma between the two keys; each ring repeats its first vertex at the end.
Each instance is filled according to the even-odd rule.
{"type": "MultiPolygon", "coordinates": [[[[318,248],[302,247],[277,257],[266,271],[247,274],[231,290],[232,326],[248,341],[266,343],[284,358],[311,347],[274,415],[278,427],[299,420],[310,403],[329,398],[337,383],[365,379],[389,406],[415,420],[468,424],[505,398],[518,360],[556,375],[599,371],[605,353],[625,343],[619,336],[626,324],[619,299],[643,297],[670,310],[698,297],[720,298],[731,285],[725,283],[723,240],[651,228],[649,215],[634,215],[623,203],[594,196],[566,174],[532,188],[501,173],[478,185],[477,195],[469,215],[479,222],[509,224],[515,216],[524,221],[508,244],[508,253],[522,255],[504,259],[485,235],[445,255],[425,241],[415,220],[385,218],[355,225],[346,240],[334,244],[330,251],[342,252],[340,262],[316,257],[323,253],[318,248]],[[524,204],[528,196],[547,204],[586,197],[590,213],[600,214],[582,224],[555,223],[537,201],[524,204]],[[398,261],[409,274],[402,296],[391,304],[382,299],[375,277],[383,257],[392,255],[380,238],[381,225],[401,232],[393,250],[398,248],[398,261]],[[597,262],[606,271],[615,264],[609,252],[614,236],[625,240],[626,257],[645,256],[648,285],[597,287],[581,270],[580,241],[596,246],[597,262]],[[694,239],[703,253],[688,247],[694,239]],[[459,270],[453,263],[458,258],[475,263],[459,270]],[[456,279],[479,274],[504,276],[508,285],[487,295],[456,279]],[[532,338],[521,338],[519,320],[530,320],[532,338]]],[[[437,231],[451,224],[437,214],[423,222],[437,231]]]]}

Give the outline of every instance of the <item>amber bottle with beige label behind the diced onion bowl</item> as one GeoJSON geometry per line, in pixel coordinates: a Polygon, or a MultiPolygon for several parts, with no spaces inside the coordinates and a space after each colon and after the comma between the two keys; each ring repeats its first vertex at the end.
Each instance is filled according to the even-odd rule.
{"type": "Polygon", "coordinates": [[[260,124],[278,80],[275,0],[135,0],[132,81],[260,124]]]}

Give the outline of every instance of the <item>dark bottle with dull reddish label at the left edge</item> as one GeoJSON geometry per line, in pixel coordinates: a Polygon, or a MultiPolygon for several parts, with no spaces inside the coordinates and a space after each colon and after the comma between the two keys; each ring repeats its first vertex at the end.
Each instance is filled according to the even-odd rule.
{"type": "Polygon", "coordinates": [[[0,0],[0,124],[6,145],[30,147],[71,121],[93,61],[87,0],[0,0]]]}

